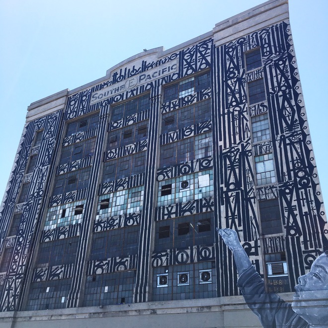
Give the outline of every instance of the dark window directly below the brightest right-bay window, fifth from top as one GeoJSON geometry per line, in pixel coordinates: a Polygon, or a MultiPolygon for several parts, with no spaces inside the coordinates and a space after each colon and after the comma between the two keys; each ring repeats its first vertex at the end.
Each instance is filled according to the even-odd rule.
{"type": "Polygon", "coordinates": [[[259,202],[262,235],[282,233],[282,222],[278,199],[259,202]]]}

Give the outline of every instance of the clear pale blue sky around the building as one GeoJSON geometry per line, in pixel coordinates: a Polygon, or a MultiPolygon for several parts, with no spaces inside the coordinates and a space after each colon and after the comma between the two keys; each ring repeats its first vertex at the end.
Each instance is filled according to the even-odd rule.
{"type": "MultiPolygon", "coordinates": [[[[27,106],[99,79],[143,51],[169,49],[262,0],[0,0],[0,199],[27,106]]],[[[289,0],[310,132],[328,206],[328,0],[289,0]]]]}

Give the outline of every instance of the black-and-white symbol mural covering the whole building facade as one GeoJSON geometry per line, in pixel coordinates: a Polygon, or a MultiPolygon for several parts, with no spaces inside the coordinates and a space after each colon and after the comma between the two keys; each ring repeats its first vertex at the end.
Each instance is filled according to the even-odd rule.
{"type": "Polygon", "coordinates": [[[163,273],[170,279],[183,265],[185,271],[211,275],[199,283],[204,291],[211,285],[212,293],[206,289],[207,296],[199,293],[194,297],[238,295],[232,254],[218,240],[216,227],[238,232],[262,275],[263,253],[286,252],[294,286],[319,251],[328,246],[300,91],[290,28],[282,22],[217,48],[207,39],[157,61],[128,64],[112,72],[109,80],[70,95],[63,113],[27,124],[0,213],[0,264],[1,270],[5,268],[0,273],[1,310],[99,306],[104,293],[117,294],[110,290],[109,282],[124,285],[122,277],[129,281],[126,294],[108,296],[105,305],[159,300],[157,276],[163,273]],[[261,65],[247,70],[245,54],[252,49],[260,49],[261,65]],[[200,76],[211,76],[210,86],[201,84],[201,79],[196,83],[198,89],[196,84],[195,88],[182,86],[195,83],[200,76]],[[263,81],[265,97],[251,102],[247,89],[258,80],[263,81]],[[169,94],[165,99],[165,84],[175,82],[181,82],[175,96],[169,94]],[[115,106],[130,105],[130,101],[132,106],[133,101],[141,102],[141,97],[147,108],[136,107],[131,113],[124,105],[121,117],[115,112],[115,106]],[[202,113],[196,107],[200,102],[207,106],[202,113]],[[184,114],[187,109],[194,110],[192,119],[184,114]],[[269,122],[268,138],[254,142],[252,122],[263,114],[269,122]],[[92,115],[97,117],[95,125],[85,127],[84,118],[92,115]],[[181,117],[187,123],[171,128],[181,117]],[[67,134],[71,122],[78,122],[78,128],[67,134]],[[148,123],[146,139],[107,146],[106,140],[113,145],[117,141],[115,131],[123,140],[128,138],[127,129],[140,122],[148,123]],[[41,143],[34,147],[37,132],[42,130],[41,143]],[[108,140],[109,134],[112,138],[108,140]],[[82,151],[75,145],[92,138],[92,152],[79,157],[82,151]],[[191,149],[188,140],[197,147],[191,149]],[[183,153],[174,145],[187,150],[183,153]],[[176,160],[165,164],[161,148],[170,146],[176,160]],[[71,151],[70,147],[73,153],[66,163],[62,154],[71,151]],[[144,163],[136,164],[135,158],[133,163],[142,170],[120,173],[124,165],[131,165],[123,165],[122,159],[139,153],[145,154],[144,163]],[[37,155],[34,169],[27,172],[33,155],[37,155]],[[263,180],[265,183],[259,184],[254,161],[274,163],[270,183],[263,180]],[[179,190],[182,182],[188,191],[186,187],[179,190]],[[172,190],[175,196],[168,202],[165,196],[172,190]],[[261,238],[259,204],[277,199],[283,233],[261,238]],[[131,208],[138,210],[129,212],[131,208]],[[178,246],[172,242],[155,250],[160,247],[156,244],[158,227],[165,222],[172,227],[185,223],[181,218],[200,224],[201,215],[212,225],[210,230],[204,228],[209,234],[207,243],[196,236],[195,242],[183,241],[178,246]],[[20,221],[12,233],[15,220],[20,221]],[[60,257],[56,253],[59,246],[71,257],[60,257]],[[35,301],[41,292],[58,288],[61,279],[66,287],[60,301],[35,301]],[[102,290],[101,297],[88,295],[94,286],[102,290]]]}

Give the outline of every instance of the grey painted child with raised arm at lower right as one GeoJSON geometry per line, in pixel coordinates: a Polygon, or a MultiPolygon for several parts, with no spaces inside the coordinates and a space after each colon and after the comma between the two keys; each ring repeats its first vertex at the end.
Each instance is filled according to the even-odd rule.
{"type": "Polygon", "coordinates": [[[218,229],[224,243],[234,254],[239,273],[238,286],[248,307],[263,327],[328,327],[328,252],[318,256],[309,273],[298,278],[293,303],[277,294],[268,294],[264,282],[251,264],[238,234],[218,229]]]}

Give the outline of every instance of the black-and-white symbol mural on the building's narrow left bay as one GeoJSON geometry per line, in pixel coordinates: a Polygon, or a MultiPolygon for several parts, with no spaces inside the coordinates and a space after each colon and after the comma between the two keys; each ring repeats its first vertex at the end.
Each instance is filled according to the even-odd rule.
{"type": "MultiPolygon", "coordinates": [[[[1,223],[8,222],[13,212],[21,213],[22,216],[14,233],[9,265],[2,280],[2,311],[13,311],[19,307],[18,299],[24,288],[22,283],[25,275],[28,274],[30,257],[34,254],[33,243],[35,243],[34,237],[40,225],[39,216],[46,206],[43,196],[49,190],[47,179],[51,173],[60,122],[61,112],[58,111],[28,123],[21,140],[21,148],[16,155],[16,165],[9,181],[4,211],[1,213],[4,220],[1,220],[1,223]],[[34,166],[30,167],[33,172],[30,182],[22,185],[24,172],[28,161],[31,163],[32,156],[37,156],[37,159],[33,162],[34,166]],[[16,205],[14,209],[17,200],[21,204],[16,205]]],[[[8,224],[2,229],[7,229],[7,227],[8,224]]]]}

